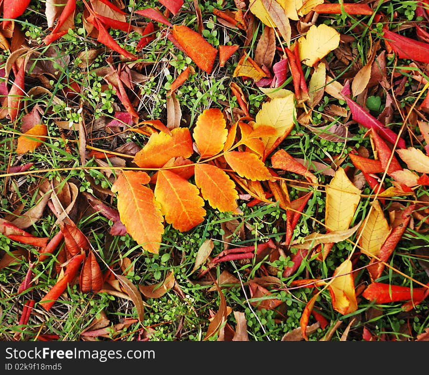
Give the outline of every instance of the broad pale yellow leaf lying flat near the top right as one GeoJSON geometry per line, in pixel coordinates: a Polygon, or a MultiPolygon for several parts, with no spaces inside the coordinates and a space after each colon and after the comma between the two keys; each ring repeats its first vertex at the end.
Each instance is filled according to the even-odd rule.
{"type": "Polygon", "coordinates": [[[340,43],[340,34],[324,23],[319,26],[312,25],[306,36],[298,39],[299,58],[312,67],[331,51],[335,50],[340,43]]]}

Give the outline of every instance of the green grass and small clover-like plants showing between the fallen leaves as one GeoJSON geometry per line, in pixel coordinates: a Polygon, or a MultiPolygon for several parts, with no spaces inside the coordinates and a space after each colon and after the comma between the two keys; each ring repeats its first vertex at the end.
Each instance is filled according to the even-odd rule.
{"type": "MultiPolygon", "coordinates": [[[[186,11],[180,12],[174,18],[175,24],[185,24],[191,28],[195,27],[196,16],[192,2],[186,2],[186,11]]],[[[151,4],[143,1],[127,1],[130,7],[127,13],[135,6],[135,9],[148,5],[159,5],[156,1],[151,4]]],[[[78,9],[81,9],[78,1],[78,9]]],[[[390,26],[401,26],[404,23],[415,20],[416,1],[389,1],[379,5],[379,11],[390,19],[390,26]],[[393,16],[393,12],[397,12],[393,16]]],[[[203,1],[200,2],[202,18],[205,26],[204,36],[213,45],[238,44],[243,45],[243,35],[239,30],[223,26],[213,15],[213,8],[221,10],[236,10],[234,1],[203,1]]],[[[360,16],[327,16],[318,18],[317,24],[325,22],[334,26],[339,32],[353,36],[351,42],[352,60],[349,65],[340,62],[334,53],[327,56],[334,67],[332,72],[340,76],[339,81],[352,76],[357,67],[366,63],[370,48],[370,39],[376,38],[381,32],[379,24],[370,24],[371,17],[360,16]],[[357,64],[357,65],[356,65],[357,64]]],[[[127,327],[113,329],[115,324],[124,322],[126,319],[137,318],[136,308],[131,300],[107,293],[84,294],[78,285],[69,285],[53,308],[46,312],[36,304],[30,320],[25,326],[20,327],[18,321],[23,304],[28,299],[39,301],[44,294],[56,283],[57,273],[56,255],[49,257],[42,264],[34,268],[35,276],[30,289],[18,294],[18,287],[25,277],[28,269],[28,259],[34,260],[37,249],[32,246],[22,245],[3,234],[0,234],[0,259],[7,255],[14,256],[20,251],[20,256],[15,261],[0,269],[0,339],[13,340],[14,334],[22,329],[20,340],[38,340],[43,334],[56,334],[59,340],[81,340],[82,331],[97,321],[102,314],[106,314],[109,325],[112,327],[107,337],[100,340],[136,340],[144,332],[150,333],[153,340],[183,340],[197,341],[205,337],[209,326],[209,318],[219,309],[220,297],[216,290],[210,290],[213,279],[206,276],[197,278],[198,271],[192,272],[195,257],[201,244],[212,239],[215,256],[223,250],[224,242],[234,246],[254,246],[272,239],[283,250],[284,256],[278,259],[270,259],[269,256],[262,259],[253,258],[250,261],[229,261],[221,263],[213,270],[213,278],[218,277],[223,271],[228,271],[238,283],[229,284],[222,288],[222,293],[227,305],[232,311],[243,312],[247,320],[247,328],[250,340],[267,341],[280,340],[283,335],[300,326],[300,319],[306,304],[313,295],[313,288],[291,287],[292,281],[300,279],[327,279],[332,276],[337,268],[351,252],[353,252],[353,269],[359,269],[355,278],[357,288],[370,282],[366,266],[369,258],[361,254],[355,247],[356,234],[348,241],[335,244],[329,256],[321,262],[314,255],[305,259],[300,268],[289,277],[283,277],[282,271],[291,265],[293,249],[282,246],[285,235],[286,212],[279,208],[273,201],[271,204],[258,204],[248,206],[245,199],[239,200],[242,214],[219,213],[217,210],[209,209],[203,223],[189,232],[179,232],[166,224],[162,237],[159,254],[151,254],[143,251],[140,246],[128,235],[112,236],[109,231],[113,224],[102,214],[95,212],[86,202],[82,193],[97,196],[107,205],[115,208],[116,197],[107,194],[115,181],[117,170],[103,166],[95,159],[91,159],[83,166],[81,165],[78,150],[78,130],[60,128],[58,122],[73,123],[81,121],[81,116],[86,124],[87,145],[106,151],[114,151],[117,147],[126,143],[136,143],[137,147],[146,144],[148,136],[135,132],[117,132],[106,130],[105,125],[115,114],[115,111],[123,111],[124,108],[117,100],[102,75],[97,74],[97,69],[105,67],[106,59],[110,51],[98,44],[93,38],[86,35],[82,24],[82,15],[77,12],[75,18],[76,28],[57,40],[51,45],[58,57],[49,57],[48,48],[43,45],[42,39],[47,33],[46,18],[44,16],[44,2],[31,1],[30,7],[20,17],[16,27],[20,27],[24,35],[35,47],[37,58],[32,61],[33,65],[26,75],[25,89],[28,91],[34,86],[44,86],[48,93],[31,95],[25,99],[25,107],[31,110],[36,104],[41,107],[42,121],[48,126],[48,136],[43,144],[33,153],[19,156],[15,152],[16,141],[20,135],[22,116],[21,111],[15,122],[7,118],[1,120],[0,128],[0,163],[1,182],[0,188],[3,192],[1,201],[1,218],[12,220],[17,213],[24,213],[37,204],[39,185],[43,181],[55,181],[58,184],[70,184],[76,186],[78,197],[73,209],[68,213],[75,221],[78,228],[87,236],[92,250],[97,254],[101,270],[105,272],[107,265],[115,272],[122,273],[123,265],[126,268],[127,278],[135,285],[153,285],[161,283],[165,277],[174,271],[176,287],[170,289],[160,298],[144,298],[145,315],[144,320],[135,322],[127,327]],[[89,52],[100,48],[100,53],[87,67],[79,67],[85,62],[89,52]],[[32,75],[32,69],[36,69],[37,63],[52,67],[50,74],[43,77],[32,75]],[[63,89],[70,87],[72,80],[76,81],[82,88],[75,98],[64,96],[63,89]],[[54,100],[55,99],[55,100],[54,100]],[[79,105],[83,103],[83,114],[79,112],[79,105]],[[34,165],[29,172],[19,175],[7,175],[8,166],[22,165],[32,162],[34,165]],[[225,226],[238,227],[235,233],[228,239],[224,238],[225,226]],[[241,234],[240,234],[241,233],[241,234]],[[22,256],[24,254],[24,256],[22,256]],[[268,274],[265,272],[267,270],[268,274]],[[250,295],[249,284],[254,278],[272,276],[278,279],[283,287],[276,285],[265,285],[270,294],[264,298],[250,295]],[[258,308],[258,303],[267,303],[279,300],[281,302],[277,310],[258,308]]],[[[247,47],[250,55],[254,54],[256,47],[256,36],[261,31],[261,25],[255,28],[252,41],[247,47]]],[[[405,31],[405,35],[411,36],[411,32],[405,31]]],[[[134,53],[139,36],[130,33],[112,31],[111,35],[128,51],[134,53]]],[[[383,41],[381,40],[383,46],[383,41]]],[[[9,52],[4,52],[0,64],[6,62],[9,52]]],[[[54,55],[56,55],[54,54],[54,55]]],[[[135,102],[135,108],[143,119],[159,119],[166,124],[166,93],[176,76],[183,71],[187,65],[194,64],[185,54],[174,47],[162,33],[156,32],[155,40],[148,44],[139,54],[143,63],[132,68],[138,73],[147,76],[147,79],[135,85],[135,93],[139,99],[135,102]]],[[[52,55],[51,55],[52,56],[52,55]]],[[[224,68],[215,66],[211,75],[195,69],[184,85],[177,91],[176,96],[182,110],[182,126],[190,129],[195,125],[196,118],[204,109],[209,107],[235,108],[238,109],[236,98],[232,95],[229,85],[231,82],[239,84],[249,102],[249,111],[255,115],[261,108],[266,96],[254,85],[252,80],[241,80],[233,77],[239,54],[235,54],[224,68]]],[[[119,59],[113,54],[113,65],[117,67],[119,59]]],[[[406,65],[407,61],[400,61],[397,66],[406,65]]],[[[399,71],[406,77],[404,92],[396,96],[401,108],[412,104],[417,97],[415,81],[411,78],[409,71],[398,70],[393,57],[388,56],[386,60],[387,75],[399,71]]],[[[195,67],[195,64],[193,65],[195,67]]],[[[195,67],[196,68],[196,67],[195,67]]],[[[307,77],[311,70],[303,67],[307,77]]],[[[400,76],[401,77],[401,76],[400,76]]],[[[399,78],[400,78],[399,77],[399,78]]],[[[397,79],[399,79],[397,78],[397,79]]],[[[288,83],[289,88],[292,84],[288,83]]],[[[368,93],[366,105],[371,113],[377,116],[386,103],[383,90],[375,87],[368,93]],[[377,99],[379,98],[379,99],[377,99]]],[[[336,116],[334,120],[326,120],[323,116],[326,107],[336,105],[349,109],[344,101],[334,99],[325,95],[318,107],[312,114],[313,125],[335,125],[344,123],[344,119],[336,116]]],[[[350,119],[349,119],[350,120],[350,119]]],[[[349,121],[348,120],[348,121],[349,121]]],[[[390,123],[393,130],[399,129],[403,119],[397,110],[393,112],[390,123]]],[[[411,126],[411,125],[410,125],[411,126]]],[[[77,129],[77,127],[76,127],[77,129]]],[[[312,133],[311,130],[297,121],[295,127],[287,139],[278,148],[286,150],[295,158],[310,162],[319,162],[327,167],[335,168],[335,158],[342,160],[341,166],[351,166],[347,157],[353,148],[359,146],[371,150],[369,137],[365,137],[366,129],[360,128],[352,123],[349,131],[353,134],[346,143],[326,141],[312,133]],[[344,159],[341,159],[344,158],[344,159]]],[[[417,132],[415,126],[412,131],[417,132]]],[[[407,145],[410,145],[410,136],[406,134],[407,145]]],[[[129,164],[127,164],[129,165],[129,164]]],[[[268,161],[267,161],[268,165],[268,161]]],[[[288,185],[291,200],[296,199],[309,190],[314,192],[312,198],[306,205],[301,218],[293,232],[293,239],[303,238],[312,232],[323,232],[325,219],[325,191],[323,186],[328,184],[331,176],[314,171],[320,186],[303,187],[297,182],[300,176],[292,173],[284,173],[282,177],[288,185]]],[[[267,189],[265,183],[263,186],[267,189]]],[[[245,193],[245,192],[243,192],[245,193]]],[[[365,198],[372,193],[366,185],[362,190],[363,198],[359,204],[351,225],[358,223],[368,213],[370,199],[365,198]]],[[[382,278],[378,281],[394,285],[419,287],[414,281],[422,284],[428,282],[425,272],[425,261],[427,258],[415,253],[421,244],[428,244],[427,210],[428,192],[425,186],[416,189],[416,198],[393,197],[391,202],[407,202],[410,200],[423,201],[424,204],[419,212],[424,219],[414,219],[413,229],[405,232],[402,240],[390,257],[390,268],[386,268],[382,278]],[[419,240],[416,245],[415,241],[419,240]]],[[[389,201],[389,199],[388,199],[389,201]]],[[[35,236],[51,238],[59,229],[57,218],[49,208],[46,208],[35,224],[27,228],[35,236]]],[[[206,266],[202,266],[204,269],[206,266]]],[[[427,268],[427,266],[426,266],[427,268]]],[[[357,311],[349,315],[341,315],[335,311],[331,304],[331,296],[324,289],[315,304],[317,311],[328,321],[326,328],[318,328],[309,336],[310,340],[321,340],[327,337],[335,324],[341,324],[331,333],[331,340],[340,340],[351,324],[348,340],[362,340],[363,327],[370,330],[376,339],[388,340],[415,340],[417,335],[423,333],[429,326],[427,301],[415,306],[409,312],[401,309],[401,303],[390,303],[374,305],[362,297],[358,297],[357,311]]],[[[235,327],[234,314],[230,314],[227,320],[233,328],[235,327]]],[[[315,322],[310,317],[310,324],[315,322]]],[[[216,340],[217,334],[210,338],[216,340]]]]}

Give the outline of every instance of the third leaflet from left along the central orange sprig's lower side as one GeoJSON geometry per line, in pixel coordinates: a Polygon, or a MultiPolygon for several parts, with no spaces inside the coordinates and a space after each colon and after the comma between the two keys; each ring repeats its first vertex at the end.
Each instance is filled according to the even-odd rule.
{"type": "Polygon", "coordinates": [[[238,193],[234,181],[222,169],[210,164],[196,164],[195,184],[213,208],[237,213],[238,193]]]}

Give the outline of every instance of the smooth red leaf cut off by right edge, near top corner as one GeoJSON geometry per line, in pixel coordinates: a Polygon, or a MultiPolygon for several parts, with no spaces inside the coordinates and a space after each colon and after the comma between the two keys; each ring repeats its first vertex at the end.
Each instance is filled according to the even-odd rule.
{"type": "Polygon", "coordinates": [[[407,38],[383,29],[384,36],[390,44],[390,47],[398,55],[399,58],[407,58],[414,61],[429,63],[429,44],[419,42],[417,40],[407,38]]]}

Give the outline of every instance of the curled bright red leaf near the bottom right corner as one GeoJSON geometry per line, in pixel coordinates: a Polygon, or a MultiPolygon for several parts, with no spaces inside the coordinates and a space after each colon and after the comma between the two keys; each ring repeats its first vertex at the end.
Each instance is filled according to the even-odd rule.
{"type": "Polygon", "coordinates": [[[408,286],[372,283],[362,293],[362,296],[376,304],[387,304],[398,301],[421,301],[425,298],[426,288],[409,288],[408,286]]]}

